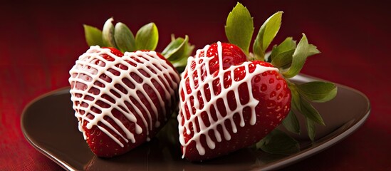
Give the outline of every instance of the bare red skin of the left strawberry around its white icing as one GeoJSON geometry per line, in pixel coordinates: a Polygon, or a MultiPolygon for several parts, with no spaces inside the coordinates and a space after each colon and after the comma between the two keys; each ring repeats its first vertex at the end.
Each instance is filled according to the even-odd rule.
{"type": "MultiPolygon", "coordinates": [[[[113,53],[115,56],[118,56],[118,57],[124,56],[123,53],[121,53],[120,51],[118,51],[115,48],[109,48],[109,49],[110,49],[111,53],[113,53]]],[[[98,66],[103,67],[103,66],[105,66],[106,63],[110,63],[112,61],[115,61],[115,58],[113,58],[113,56],[109,56],[108,54],[102,54],[101,56],[107,61],[93,61],[98,66]]],[[[162,59],[165,59],[159,53],[157,53],[157,56],[159,56],[162,59]]],[[[170,67],[173,68],[172,64],[169,61],[166,60],[166,63],[170,67]]],[[[126,70],[127,67],[123,66],[121,64],[118,64],[118,65],[116,65],[116,68],[113,68],[113,69],[110,68],[109,71],[111,73],[113,73],[114,75],[118,75],[119,73],[118,73],[118,71],[116,71],[118,69],[126,70]]],[[[140,72],[141,72],[141,74],[145,74],[145,73],[142,73],[142,71],[140,71],[140,72]]],[[[132,74],[132,73],[130,73],[130,74],[132,74]]],[[[132,74],[132,78],[134,80],[136,80],[137,82],[142,81],[142,78],[140,78],[140,76],[138,76],[137,74],[140,74],[140,73],[132,74]]],[[[79,78],[82,78],[83,80],[91,79],[88,77],[89,76],[83,76],[83,74],[80,74],[80,76],[79,76],[79,78]]],[[[108,76],[101,75],[100,78],[102,78],[104,81],[107,81],[107,82],[112,81],[112,78],[109,78],[108,76]]],[[[177,82],[179,82],[179,79],[177,80],[177,82]]],[[[124,83],[130,88],[134,87],[134,85],[132,85],[132,83],[130,83],[130,81],[124,81],[124,83]]],[[[156,81],[155,82],[152,81],[152,83],[154,84],[155,88],[157,88],[157,91],[160,93],[160,95],[162,95],[163,91],[164,91],[163,90],[164,87],[157,85],[156,81]]],[[[103,83],[99,83],[98,81],[96,81],[94,84],[95,84],[95,86],[100,86],[101,88],[104,87],[103,83]]],[[[166,86],[172,86],[172,85],[166,85],[166,86]]],[[[73,83],[71,83],[71,88],[75,88],[78,90],[84,90],[86,88],[86,85],[84,83],[80,83],[80,82],[73,82],[73,83]]],[[[115,88],[117,90],[122,91],[122,92],[126,91],[126,88],[124,88],[122,86],[115,86],[115,88]]],[[[148,88],[144,88],[144,90],[145,90],[146,95],[143,95],[142,93],[137,93],[137,96],[141,98],[142,102],[145,105],[147,105],[147,110],[150,110],[150,112],[152,113],[152,111],[151,111],[152,106],[151,105],[160,106],[160,101],[157,97],[157,93],[155,93],[154,91],[152,91],[148,88]],[[148,99],[152,100],[152,104],[148,103],[148,99]]],[[[152,130],[149,130],[149,135],[147,135],[148,131],[145,126],[142,126],[142,133],[140,133],[140,134],[135,133],[136,132],[135,131],[136,124],[131,122],[130,120],[128,120],[125,117],[125,114],[121,113],[119,110],[112,110],[114,117],[116,119],[120,120],[120,122],[125,125],[127,130],[130,130],[130,132],[135,134],[135,142],[131,142],[130,140],[128,142],[126,142],[123,138],[121,138],[120,135],[114,133],[114,131],[111,130],[110,128],[108,128],[106,125],[102,124],[101,122],[98,123],[98,125],[101,128],[103,128],[104,130],[108,130],[108,132],[111,135],[115,136],[115,138],[118,138],[118,140],[120,140],[120,142],[124,145],[123,147],[121,147],[118,144],[118,142],[115,142],[113,140],[113,138],[110,138],[110,136],[107,133],[104,133],[102,129],[98,128],[97,125],[93,125],[92,128],[87,128],[88,120],[83,120],[82,129],[83,129],[83,131],[85,131],[84,132],[85,140],[88,143],[90,150],[95,155],[97,155],[99,157],[113,157],[113,156],[121,155],[125,152],[128,152],[129,150],[132,150],[133,148],[141,145],[142,143],[147,141],[149,138],[153,138],[157,134],[157,132],[163,127],[163,125],[165,125],[167,120],[170,118],[171,113],[173,112],[174,106],[177,105],[177,90],[175,90],[174,92],[175,92],[175,95],[173,95],[171,99],[164,99],[164,103],[167,104],[167,105],[165,105],[165,111],[166,111],[165,115],[163,115],[163,113],[161,112],[162,111],[161,108],[158,108],[158,110],[160,111],[160,113],[158,113],[158,117],[155,117],[155,115],[151,115],[152,123],[159,122],[160,125],[157,127],[155,127],[155,125],[153,125],[154,128],[152,130]],[[171,105],[168,105],[168,104],[171,104],[171,105]]],[[[90,88],[88,90],[88,93],[91,93],[93,95],[98,95],[100,93],[100,90],[98,90],[97,88],[90,88]]],[[[76,94],[76,96],[78,96],[78,94],[76,94]]],[[[108,100],[112,103],[115,103],[116,100],[119,100],[119,99],[115,99],[113,97],[110,97],[109,95],[102,95],[102,98],[104,98],[105,100],[108,100]]],[[[131,98],[131,99],[134,99],[134,98],[131,98]]],[[[132,101],[132,102],[135,104],[135,108],[137,108],[138,110],[141,111],[144,118],[147,118],[147,116],[146,116],[147,112],[145,111],[144,108],[142,108],[142,104],[137,103],[135,101],[132,101]]],[[[76,105],[88,107],[87,103],[83,103],[83,102],[82,103],[75,102],[75,103],[76,103],[76,105]]],[[[108,107],[108,104],[104,103],[101,100],[97,101],[96,105],[103,107],[103,108],[108,107]]],[[[127,110],[130,111],[130,113],[137,113],[135,108],[133,108],[131,105],[121,106],[120,108],[126,108],[127,110]]],[[[92,108],[91,110],[95,111],[95,113],[100,113],[98,108],[92,108]]],[[[85,111],[80,110],[78,112],[83,113],[85,111]]],[[[90,119],[92,119],[94,117],[90,113],[84,113],[84,115],[86,115],[86,117],[90,118],[90,119]]],[[[127,113],[127,115],[129,115],[129,113],[127,113]]],[[[144,125],[144,123],[142,123],[142,118],[140,116],[135,115],[135,117],[137,118],[137,125],[144,125]]],[[[112,118],[105,116],[105,118],[103,118],[103,119],[106,122],[110,123],[110,125],[113,125],[115,130],[118,130],[123,137],[126,137],[125,132],[122,131],[122,129],[118,126],[117,123],[115,123],[115,121],[112,118]]]]}

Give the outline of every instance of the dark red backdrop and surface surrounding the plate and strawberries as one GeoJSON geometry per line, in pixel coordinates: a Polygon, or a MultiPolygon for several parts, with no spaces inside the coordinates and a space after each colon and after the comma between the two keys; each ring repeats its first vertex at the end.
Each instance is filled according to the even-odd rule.
{"type": "MultiPolygon", "coordinates": [[[[241,1],[254,16],[255,32],[284,11],[276,42],[306,33],[322,53],[303,73],[353,87],[372,105],[370,118],[342,142],[286,170],[391,170],[391,12],[387,1],[241,1]]],[[[25,105],[42,93],[68,86],[68,70],[88,46],[83,24],[101,28],[114,16],[135,32],[151,21],[160,43],[189,35],[197,48],[226,41],[224,24],[236,1],[11,1],[0,6],[0,170],[61,170],[24,139],[25,105]]],[[[53,115],[53,117],[56,117],[53,115]]]]}

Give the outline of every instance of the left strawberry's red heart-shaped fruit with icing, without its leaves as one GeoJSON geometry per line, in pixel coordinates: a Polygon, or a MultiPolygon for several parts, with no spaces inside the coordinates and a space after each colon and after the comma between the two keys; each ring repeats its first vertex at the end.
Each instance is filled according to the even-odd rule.
{"type": "Polygon", "coordinates": [[[177,106],[179,75],[155,51],[121,53],[91,46],[70,71],[79,130],[100,157],[149,141],[177,106]]]}

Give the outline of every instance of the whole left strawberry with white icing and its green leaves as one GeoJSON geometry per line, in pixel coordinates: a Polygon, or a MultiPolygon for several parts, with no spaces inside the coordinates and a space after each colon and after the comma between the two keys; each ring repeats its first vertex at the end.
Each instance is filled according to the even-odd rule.
{"type": "Polygon", "coordinates": [[[132,150],[167,123],[177,109],[175,67],[184,65],[182,58],[193,48],[187,36],[173,38],[163,56],[154,51],[155,24],[143,26],[134,37],[125,24],[112,21],[105,22],[103,31],[84,26],[90,49],[75,62],[69,78],[78,128],[99,157],[132,150]]]}

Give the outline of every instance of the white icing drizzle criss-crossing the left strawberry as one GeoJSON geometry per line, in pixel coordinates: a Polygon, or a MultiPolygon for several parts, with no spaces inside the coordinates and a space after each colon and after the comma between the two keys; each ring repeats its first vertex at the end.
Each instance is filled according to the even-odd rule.
{"type": "Polygon", "coordinates": [[[125,140],[125,142],[129,142],[130,140],[130,142],[135,143],[134,133],[130,132],[130,130],[128,130],[128,128],[126,128],[126,126],[120,120],[118,120],[118,118],[115,118],[112,111],[120,111],[120,113],[123,113],[123,115],[128,120],[130,120],[131,123],[135,123],[135,133],[137,135],[141,134],[143,130],[142,125],[137,125],[136,115],[138,115],[138,118],[140,118],[142,120],[142,123],[145,125],[145,130],[147,130],[147,140],[149,141],[149,131],[152,130],[153,126],[160,126],[160,123],[158,121],[152,123],[152,115],[155,115],[156,120],[162,117],[158,116],[158,110],[162,110],[162,113],[166,115],[165,105],[172,104],[165,104],[164,99],[168,99],[167,101],[171,103],[172,100],[170,99],[172,98],[172,95],[174,95],[174,91],[177,90],[177,82],[179,81],[179,76],[174,70],[174,68],[172,68],[164,59],[157,56],[157,53],[155,51],[125,52],[124,56],[119,57],[111,53],[110,49],[100,48],[99,46],[91,46],[86,53],[84,53],[78,58],[75,63],[75,66],[73,66],[69,73],[71,74],[71,77],[69,78],[69,83],[73,85],[70,90],[70,93],[72,95],[71,100],[73,101],[73,109],[75,110],[75,117],[79,120],[78,128],[80,132],[83,133],[84,139],[86,139],[86,135],[85,130],[83,130],[83,123],[85,121],[88,121],[86,128],[91,129],[94,125],[97,126],[100,130],[103,131],[103,133],[107,134],[121,147],[124,147],[124,145],[122,144],[122,142],[120,142],[120,139],[115,138],[115,135],[111,134],[109,130],[106,130],[102,126],[98,125],[98,123],[102,123],[103,125],[105,125],[108,129],[112,130],[115,134],[119,135],[120,138],[125,140]],[[114,61],[106,60],[105,58],[103,58],[103,54],[107,54],[108,56],[113,58],[114,61]],[[127,61],[130,61],[137,66],[132,66],[127,61]],[[126,66],[126,69],[119,68],[118,65],[126,66]],[[110,70],[118,71],[119,76],[115,76],[115,74],[110,72],[110,70]],[[149,76],[144,76],[140,73],[140,70],[145,71],[145,73],[147,73],[147,75],[149,76]],[[152,70],[155,71],[155,73],[152,70]],[[137,83],[137,81],[132,78],[130,73],[137,74],[137,76],[142,78],[142,83],[137,83]],[[112,81],[108,83],[107,81],[100,78],[100,76],[103,75],[107,76],[108,78],[111,78],[112,81]],[[85,78],[83,78],[85,76],[88,76],[87,81],[85,78]],[[172,76],[174,77],[173,79],[172,76]],[[135,88],[129,88],[122,81],[122,78],[127,78],[127,80],[129,80],[135,86],[135,88]],[[154,86],[152,81],[155,81],[155,83],[159,84],[160,87],[164,90],[163,97],[162,95],[160,95],[160,92],[154,86]],[[95,83],[98,82],[103,83],[104,86],[97,86],[95,83]],[[82,83],[86,86],[86,88],[84,90],[78,90],[75,88],[76,83],[82,83]],[[122,93],[121,90],[115,88],[116,84],[125,88],[127,93],[122,93]],[[170,85],[172,85],[172,87],[170,85]],[[144,86],[149,86],[151,90],[156,94],[160,106],[155,106],[155,104],[152,103],[152,100],[148,98],[149,95],[145,92],[144,86]],[[94,95],[93,93],[88,92],[91,88],[98,89],[99,93],[97,95],[94,95]],[[111,93],[110,90],[119,94],[120,98],[118,98],[115,94],[111,93]],[[149,104],[145,104],[145,102],[142,102],[137,93],[141,93],[148,100],[149,104]],[[113,98],[115,100],[115,103],[110,102],[110,100],[106,100],[105,98],[103,98],[103,95],[110,96],[110,98],[113,98]],[[92,97],[93,100],[85,99],[88,96],[92,97]],[[139,103],[142,107],[142,110],[147,113],[147,118],[142,115],[142,110],[137,108],[135,103],[132,103],[131,97],[133,98],[133,100],[137,101],[137,103],[139,103]],[[99,100],[109,105],[109,107],[103,108],[100,107],[100,105],[97,105],[96,103],[99,100]],[[76,104],[76,102],[78,102],[78,104],[76,104]],[[82,103],[87,103],[88,105],[85,107],[82,106],[82,103]],[[130,104],[133,110],[135,110],[135,113],[131,113],[130,109],[127,108],[127,105],[125,103],[130,104]],[[148,107],[152,108],[152,113],[150,113],[148,107]],[[98,110],[100,110],[101,112],[95,113],[92,108],[98,108],[98,110]],[[84,112],[80,113],[81,111],[84,112]],[[88,113],[94,116],[93,119],[87,118],[88,113]],[[115,124],[117,124],[122,130],[122,132],[125,133],[125,137],[121,135],[120,131],[116,130],[113,125],[110,125],[108,121],[103,119],[105,117],[109,117],[114,120],[115,124]]]}

